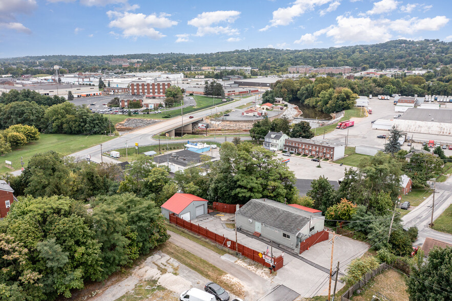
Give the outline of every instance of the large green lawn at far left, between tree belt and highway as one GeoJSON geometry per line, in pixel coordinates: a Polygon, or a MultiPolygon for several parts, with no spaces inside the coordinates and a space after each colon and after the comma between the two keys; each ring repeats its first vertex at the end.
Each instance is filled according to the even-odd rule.
{"type": "Polygon", "coordinates": [[[0,156],[0,160],[3,162],[0,167],[0,173],[6,173],[19,169],[20,156],[23,157],[24,166],[27,166],[28,160],[37,154],[44,153],[48,150],[55,150],[55,152],[63,155],[69,155],[78,152],[81,149],[91,147],[93,145],[108,141],[115,137],[105,135],[66,135],[66,134],[41,134],[38,141],[34,141],[20,148],[12,150],[4,156],[0,156]],[[10,169],[4,165],[5,160],[11,161],[13,169],[10,169]]]}

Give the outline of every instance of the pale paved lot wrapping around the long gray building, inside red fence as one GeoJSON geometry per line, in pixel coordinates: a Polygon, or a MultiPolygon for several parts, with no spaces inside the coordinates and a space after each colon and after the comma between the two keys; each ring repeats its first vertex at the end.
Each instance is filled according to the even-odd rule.
{"type": "MultiPolygon", "coordinates": [[[[224,235],[225,238],[235,241],[235,230],[228,228],[226,223],[234,223],[234,214],[219,213],[217,216],[204,216],[191,221],[202,227],[224,235]]],[[[330,234],[330,238],[332,235],[330,234]]],[[[237,232],[237,242],[257,251],[265,252],[270,248],[270,242],[250,237],[241,232],[237,232]]],[[[345,236],[335,239],[333,263],[341,262],[340,271],[345,272],[346,267],[356,257],[362,256],[368,249],[368,245],[355,241],[345,236]]],[[[296,291],[302,297],[310,297],[314,294],[325,295],[328,290],[328,279],[331,261],[331,242],[324,241],[311,247],[309,250],[299,255],[283,252],[284,249],[273,245],[273,255],[284,256],[284,267],[277,271],[273,278],[276,284],[285,285],[296,291]],[[317,293],[316,293],[317,292],[317,293]]],[[[338,290],[344,284],[338,282],[338,290]]]]}

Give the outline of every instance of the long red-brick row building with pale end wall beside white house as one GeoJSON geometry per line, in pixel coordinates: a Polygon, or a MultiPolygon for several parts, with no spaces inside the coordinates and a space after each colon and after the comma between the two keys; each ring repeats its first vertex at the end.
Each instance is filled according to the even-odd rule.
{"type": "Polygon", "coordinates": [[[284,150],[320,159],[338,160],[344,157],[345,144],[332,140],[312,140],[304,138],[285,139],[284,150]]]}

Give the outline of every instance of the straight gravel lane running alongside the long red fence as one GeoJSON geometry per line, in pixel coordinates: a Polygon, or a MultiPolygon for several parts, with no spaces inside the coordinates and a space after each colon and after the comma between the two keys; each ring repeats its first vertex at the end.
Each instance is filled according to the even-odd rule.
{"type": "Polygon", "coordinates": [[[228,260],[221,259],[218,253],[206,247],[198,245],[197,243],[184,238],[179,234],[171,231],[168,231],[168,233],[170,233],[171,235],[170,242],[172,242],[173,244],[186,249],[194,255],[202,258],[203,260],[206,260],[207,262],[212,263],[221,270],[239,279],[240,283],[246,290],[247,300],[257,300],[271,288],[271,283],[268,279],[262,278],[252,271],[228,260]]]}

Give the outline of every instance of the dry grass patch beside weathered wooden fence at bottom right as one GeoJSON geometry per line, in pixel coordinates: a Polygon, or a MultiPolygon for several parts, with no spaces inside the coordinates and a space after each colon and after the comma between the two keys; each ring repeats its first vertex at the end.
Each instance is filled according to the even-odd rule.
{"type": "Polygon", "coordinates": [[[375,276],[360,290],[359,295],[354,295],[353,301],[372,300],[372,296],[381,297],[382,294],[387,300],[408,301],[406,292],[405,275],[392,269],[387,269],[380,275],[375,276]]]}

